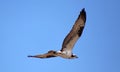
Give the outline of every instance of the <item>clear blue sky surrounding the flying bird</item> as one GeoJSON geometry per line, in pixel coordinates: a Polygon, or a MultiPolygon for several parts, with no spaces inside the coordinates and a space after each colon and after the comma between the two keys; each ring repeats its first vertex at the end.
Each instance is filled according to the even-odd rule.
{"type": "Polygon", "coordinates": [[[0,72],[120,72],[119,7],[119,0],[1,0],[0,72]],[[27,58],[61,49],[82,8],[78,59],[27,58]]]}

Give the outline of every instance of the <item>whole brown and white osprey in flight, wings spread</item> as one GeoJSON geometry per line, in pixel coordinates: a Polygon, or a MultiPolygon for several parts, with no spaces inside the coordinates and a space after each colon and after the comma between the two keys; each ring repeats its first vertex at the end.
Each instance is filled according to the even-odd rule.
{"type": "Polygon", "coordinates": [[[51,57],[59,56],[66,59],[78,58],[75,54],[72,53],[72,49],[76,41],[79,39],[79,37],[83,32],[83,29],[85,27],[85,22],[86,22],[86,12],[85,9],[83,8],[80,11],[80,15],[78,16],[75,24],[73,25],[70,33],[65,37],[60,51],[50,50],[45,54],[34,55],[34,56],[29,55],[28,57],[51,58],[51,57]]]}

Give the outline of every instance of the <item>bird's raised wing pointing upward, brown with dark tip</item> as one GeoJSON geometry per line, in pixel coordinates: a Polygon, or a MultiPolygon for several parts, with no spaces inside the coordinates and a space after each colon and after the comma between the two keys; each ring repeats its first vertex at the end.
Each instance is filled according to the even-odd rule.
{"type": "Polygon", "coordinates": [[[63,44],[62,44],[61,51],[72,52],[72,48],[74,44],[76,43],[76,41],[78,40],[78,38],[81,36],[83,32],[85,22],[86,22],[86,12],[85,12],[85,9],[83,8],[82,11],[80,12],[80,15],[78,16],[78,19],[73,25],[72,30],[65,37],[63,44]]]}

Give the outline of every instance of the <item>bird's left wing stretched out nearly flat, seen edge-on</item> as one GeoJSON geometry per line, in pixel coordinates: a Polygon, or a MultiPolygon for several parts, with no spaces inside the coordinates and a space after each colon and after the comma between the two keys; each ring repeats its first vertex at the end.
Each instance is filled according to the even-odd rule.
{"type": "Polygon", "coordinates": [[[45,54],[40,54],[40,55],[35,55],[35,56],[31,56],[29,55],[28,57],[34,57],[34,58],[51,58],[51,57],[56,57],[56,51],[48,51],[48,53],[45,54]]]}

